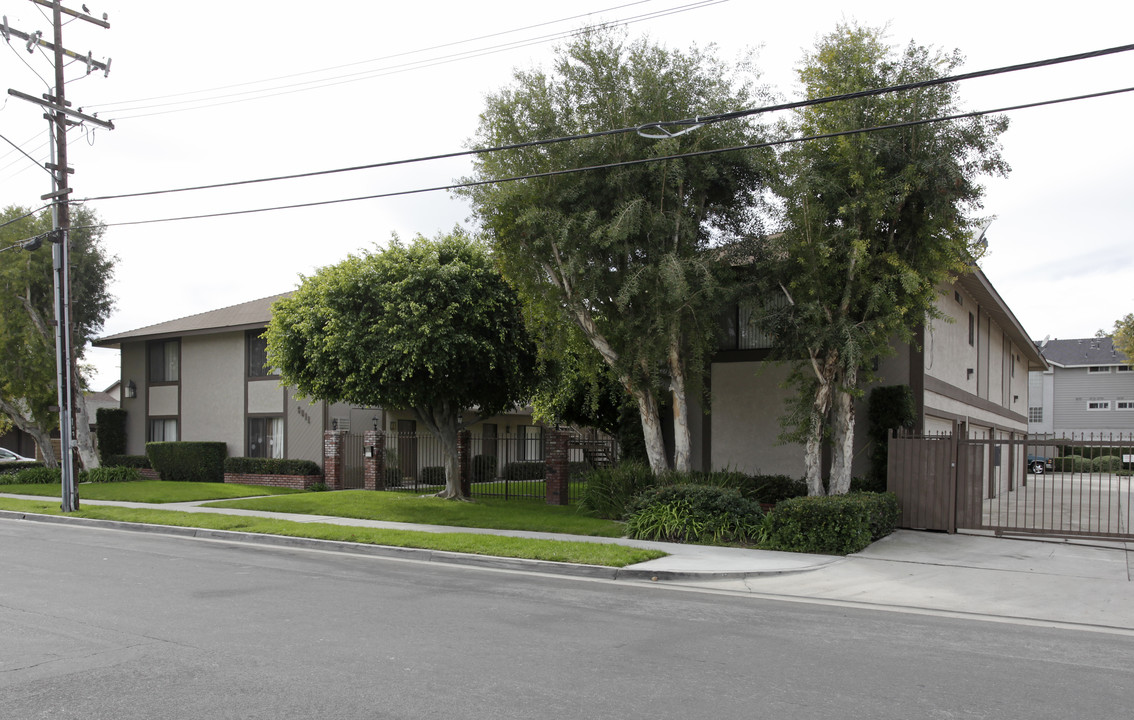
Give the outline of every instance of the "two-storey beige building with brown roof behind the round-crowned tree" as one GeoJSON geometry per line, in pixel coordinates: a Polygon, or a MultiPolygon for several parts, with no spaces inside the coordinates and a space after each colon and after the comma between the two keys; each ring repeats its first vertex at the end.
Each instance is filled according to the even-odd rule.
{"type": "MultiPolygon", "coordinates": [[[[144,454],[150,441],[221,441],[230,457],[287,457],[322,466],[327,430],[426,432],[408,412],[302,400],[281,386],[266,366],[261,336],[272,303],[287,295],[96,340],[96,347],[121,350],[127,454],[144,454]]],[[[526,457],[538,451],[539,457],[526,459],[542,458],[542,441],[532,442],[541,435],[530,409],[474,425],[473,433],[524,435],[524,450],[514,452],[526,457]]],[[[409,447],[417,446],[406,446],[403,452],[409,447]]]]}

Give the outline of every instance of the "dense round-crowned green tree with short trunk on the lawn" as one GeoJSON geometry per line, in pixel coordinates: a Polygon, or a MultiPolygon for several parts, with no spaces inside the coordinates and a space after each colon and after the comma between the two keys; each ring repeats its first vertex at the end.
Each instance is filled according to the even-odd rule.
{"type": "Polygon", "coordinates": [[[516,294],[459,228],[304,278],[272,306],[266,338],[302,396],[413,410],[445,451],[445,498],[463,497],[458,431],[523,399],[534,372],[516,294]]]}

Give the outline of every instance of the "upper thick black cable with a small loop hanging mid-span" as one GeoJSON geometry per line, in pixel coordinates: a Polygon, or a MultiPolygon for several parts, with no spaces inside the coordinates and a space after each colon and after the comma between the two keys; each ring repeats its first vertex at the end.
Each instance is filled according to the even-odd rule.
{"type": "Polygon", "coordinates": [[[534,146],[539,146],[539,145],[550,145],[550,144],[555,144],[555,143],[565,143],[565,142],[573,142],[573,141],[579,141],[579,139],[591,139],[591,138],[603,137],[603,136],[608,136],[608,135],[620,135],[620,134],[626,134],[626,133],[638,133],[638,132],[642,132],[644,129],[655,128],[655,127],[710,125],[710,124],[716,124],[716,122],[723,122],[726,120],[733,120],[733,119],[741,119],[741,118],[745,118],[745,117],[751,117],[751,116],[755,116],[755,115],[764,115],[764,113],[769,113],[769,112],[777,112],[777,111],[781,111],[781,110],[795,110],[795,109],[798,109],[798,108],[805,108],[805,107],[811,107],[811,105],[820,105],[820,104],[827,104],[827,103],[831,103],[831,102],[841,102],[841,101],[846,101],[846,100],[853,100],[853,99],[865,98],[865,96],[871,96],[871,95],[881,95],[881,94],[887,94],[887,93],[905,92],[905,91],[909,91],[909,90],[919,90],[919,88],[922,88],[922,87],[930,87],[930,86],[934,86],[934,85],[943,85],[943,84],[948,84],[948,83],[956,83],[956,82],[966,81],[966,79],[973,79],[973,78],[978,78],[978,77],[989,77],[989,76],[992,76],[992,75],[1001,75],[1001,74],[1005,74],[1005,73],[1016,73],[1016,71],[1019,71],[1019,70],[1034,69],[1034,68],[1047,67],[1047,66],[1051,66],[1051,65],[1059,65],[1059,63],[1065,63],[1065,62],[1074,62],[1074,61],[1084,60],[1084,59],[1088,59],[1088,58],[1097,58],[1097,57],[1102,57],[1102,56],[1107,56],[1107,54],[1114,54],[1114,53],[1118,53],[1118,52],[1127,52],[1127,51],[1131,51],[1131,50],[1134,50],[1134,44],[1120,45],[1120,46],[1117,46],[1117,48],[1108,48],[1108,49],[1103,49],[1103,50],[1093,50],[1091,52],[1076,53],[1076,54],[1064,56],[1064,57],[1059,57],[1059,58],[1049,58],[1047,60],[1036,60],[1036,61],[1033,61],[1033,62],[1024,62],[1024,63],[1018,63],[1018,65],[1001,66],[1001,67],[991,68],[991,69],[988,69],[988,70],[975,70],[973,73],[965,73],[963,75],[950,75],[950,76],[945,76],[945,77],[939,77],[939,78],[932,78],[932,79],[928,79],[928,81],[920,81],[917,83],[906,83],[904,85],[891,85],[891,86],[887,86],[887,87],[878,87],[878,88],[872,88],[872,90],[857,91],[857,92],[853,92],[853,93],[844,93],[844,94],[840,94],[840,95],[829,95],[829,96],[826,96],[826,98],[815,98],[815,99],[812,99],[812,100],[801,100],[801,101],[796,101],[796,102],[779,103],[779,104],[775,104],[775,105],[764,105],[764,107],[761,107],[761,108],[750,108],[750,109],[737,110],[737,111],[727,112],[727,113],[719,113],[719,115],[704,116],[704,117],[697,117],[697,118],[687,118],[687,119],[684,119],[684,120],[663,120],[663,121],[658,121],[658,122],[649,122],[649,124],[645,124],[645,125],[638,125],[638,126],[634,126],[634,127],[623,127],[623,128],[615,128],[615,129],[608,129],[608,130],[598,130],[598,132],[594,132],[594,133],[583,133],[583,134],[577,134],[577,135],[566,135],[566,136],[551,137],[551,138],[545,138],[545,139],[528,141],[528,142],[525,142],[525,143],[515,143],[515,144],[510,144],[510,145],[497,145],[497,146],[492,146],[492,147],[481,147],[481,149],[474,149],[474,150],[460,150],[460,151],[455,151],[455,152],[449,152],[449,153],[440,153],[440,154],[433,154],[433,155],[423,155],[423,156],[417,156],[417,158],[408,158],[408,159],[404,159],[404,160],[388,160],[388,161],[383,161],[383,162],[372,162],[372,163],[366,163],[366,164],[361,164],[361,166],[350,166],[350,167],[345,167],[345,168],[332,168],[332,169],[328,169],[328,170],[312,170],[310,172],[296,172],[296,173],[290,173],[290,175],[279,175],[279,176],[272,176],[272,177],[266,177],[266,178],[254,178],[254,179],[246,179],[246,180],[231,180],[231,181],[228,181],[228,183],[212,183],[212,184],[208,184],[208,185],[194,185],[194,186],[188,186],[188,187],[167,188],[167,189],[161,189],[161,190],[143,190],[143,192],[137,192],[137,193],[121,193],[121,194],[115,194],[115,195],[99,195],[99,196],[93,196],[93,197],[86,197],[86,198],[84,198],[82,201],[78,201],[78,202],[93,202],[93,201],[103,201],[103,200],[118,200],[118,198],[124,198],[124,197],[144,197],[144,196],[150,196],[150,195],[167,195],[167,194],[171,194],[171,193],[186,193],[186,192],[193,192],[193,190],[218,189],[218,188],[222,188],[222,187],[236,187],[236,186],[240,186],[240,185],[256,185],[256,184],[262,184],[262,183],[276,183],[276,181],[281,181],[281,180],[295,180],[295,179],[302,179],[302,178],[319,177],[319,176],[324,176],[324,175],[338,175],[338,173],[344,173],[344,172],[356,172],[356,171],[359,171],[359,170],[373,170],[373,169],[378,169],[378,168],[388,168],[388,167],[400,166],[400,164],[412,164],[412,163],[416,163],[416,162],[430,162],[430,161],[434,161],[434,160],[449,160],[449,159],[452,159],[452,158],[460,158],[460,156],[465,156],[465,155],[477,155],[477,154],[484,154],[484,153],[490,153],[490,152],[501,152],[501,151],[508,151],[508,150],[521,150],[521,149],[524,149],[524,147],[534,147],[534,146]]]}

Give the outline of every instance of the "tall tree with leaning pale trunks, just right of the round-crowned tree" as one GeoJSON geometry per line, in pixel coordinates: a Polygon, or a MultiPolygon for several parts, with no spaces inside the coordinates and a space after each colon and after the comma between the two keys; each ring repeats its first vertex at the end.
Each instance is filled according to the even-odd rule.
{"type": "MultiPolygon", "coordinates": [[[[517,70],[489,95],[474,141],[524,143],[748,107],[745,63],[712,49],[667,50],[591,31],[552,70],[517,70]]],[[[660,134],[660,133],[654,133],[660,134]]],[[[689,469],[688,397],[701,390],[721,299],[714,242],[753,231],[768,154],[731,152],[556,177],[496,178],[607,166],[754,142],[748,121],[653,139],[603,135],[483,153],[467,195],[505,276],[530,312],[575,324],[637,405],[650,464],[668,467],[658,392],[671,398],[677,469],[689,469]]]]}

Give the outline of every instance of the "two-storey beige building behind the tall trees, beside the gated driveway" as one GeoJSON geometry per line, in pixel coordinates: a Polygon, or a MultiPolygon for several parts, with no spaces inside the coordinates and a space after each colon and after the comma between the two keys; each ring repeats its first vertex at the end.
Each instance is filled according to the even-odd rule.
{"type": "MultiPolygon", "coordinates": [[[[913,391],[917,430],[949,432],[954,421],[970,433],[1016,438],[1027,432],[1029,372],[1047,363],[1019,321],[979,268],[941,288],[932,319],[912,345],[898,344],[881,358],[875,386],[906,384],[913,391]]],[[[750,322],[756,303],[741,303],[726,323],[726,339],[711,366],[711,412],[694,426],[694,465],[706,469],[804,474],[801,444],[781,444],[780,417],[792,390],[788,366],[768,362],[771,338],[750,322]]],[[[869,467],[865,397],[856,407],[853,473],[869,467]]]]}

